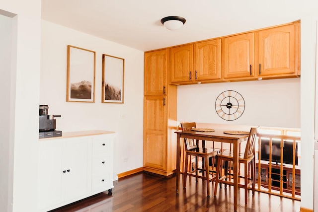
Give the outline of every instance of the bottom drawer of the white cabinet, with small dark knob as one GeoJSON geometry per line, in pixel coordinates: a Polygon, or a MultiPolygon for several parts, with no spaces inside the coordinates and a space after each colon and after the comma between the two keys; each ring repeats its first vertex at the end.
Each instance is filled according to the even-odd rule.
{"type": "Polygon", "coordinates": [[[113,188],[113,179],[111,172],[100,172],[93,173],[91,178],[91,189],[92,191],[100,189],[110,189],[113,188]]]}

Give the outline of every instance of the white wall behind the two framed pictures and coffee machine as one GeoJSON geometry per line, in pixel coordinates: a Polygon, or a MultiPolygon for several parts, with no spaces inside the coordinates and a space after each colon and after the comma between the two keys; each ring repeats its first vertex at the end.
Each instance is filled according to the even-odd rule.
{"type": "Polygon", "coordinates": [[[144,52],[44,20],[41,39],[40,104],[62,115],[56,130],[115,131],[114,171],[142,167],[144,52]],[[67,45],[96,52],[95,103],[66,102],[67,45]],[[101,103],[102,54],[125,59],[124,104],[101,103]]]}

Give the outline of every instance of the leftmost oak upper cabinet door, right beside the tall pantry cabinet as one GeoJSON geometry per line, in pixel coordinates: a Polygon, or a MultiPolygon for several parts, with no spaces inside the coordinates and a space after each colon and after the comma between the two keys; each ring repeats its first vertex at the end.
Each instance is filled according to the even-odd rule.
{"type": "Polygon", "coordinates": [[[193,44],[170,48],[170,82],[193,80],[193,44]]]}

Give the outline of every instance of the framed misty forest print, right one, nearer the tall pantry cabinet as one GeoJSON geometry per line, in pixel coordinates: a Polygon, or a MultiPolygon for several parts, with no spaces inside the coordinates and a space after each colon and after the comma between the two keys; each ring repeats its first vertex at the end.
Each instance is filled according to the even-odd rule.
{"type": "Polygon", "coordinates": [[[103,54],[102,103],[124,103],[125,59],[103,54]]]}

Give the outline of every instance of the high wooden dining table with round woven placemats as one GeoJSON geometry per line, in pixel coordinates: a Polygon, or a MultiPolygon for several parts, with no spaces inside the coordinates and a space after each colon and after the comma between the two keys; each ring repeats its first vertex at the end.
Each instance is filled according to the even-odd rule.
{"type": "MultiPolygon", "coordinates": [[[[175,132],[177,134],[177,152],[176,152],[176,182],[175,188],[176,193],[178,194],[179,191],[179,178],[180,178],[180,158],[181,158],[181,146],[182,146],[182,139],[181,138],[188,138],[188,139],[197,139],[202,141],[218,141],[218,142],[225,142],[225,143],[233,143],[233,171],[234,173],[238,173],[238,164],[239,164],[239,143],[247,141],[248,135],[229,135],[224,134],[222,129],[215,129],[214,132],[197,132],[197,131],[178,131],[175,132]]],[[[234,180],[234,211],[238,210],[238,175],[235,174],[233,176],[234,180]]]]}

